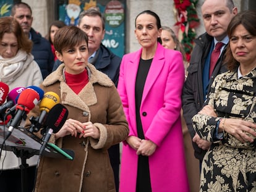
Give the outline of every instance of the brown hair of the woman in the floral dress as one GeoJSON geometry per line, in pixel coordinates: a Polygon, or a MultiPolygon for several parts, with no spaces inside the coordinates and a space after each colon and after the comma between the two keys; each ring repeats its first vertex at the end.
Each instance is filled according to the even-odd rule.
{"type": "MultiPolygon", "coordinates": [[[[236,30],[238,25],[242,25],[250,33],[250,35],[256,36],[256,11],[244,10],[233,17],[227,30],[229,39],[233,35],[234,30],[236,30]]],[[[230,44],[228,44],[226,49],[224,62],[227,64],[229,70],[236,70],[239,65],[239,62],[233,57],[230,44]]]]}

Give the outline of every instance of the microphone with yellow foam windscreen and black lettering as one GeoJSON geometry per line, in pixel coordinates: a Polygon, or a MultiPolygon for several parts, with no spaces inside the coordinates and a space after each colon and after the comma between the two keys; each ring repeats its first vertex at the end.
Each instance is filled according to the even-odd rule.
{"type": "Polygon", "coordinates": [[[39,107],[41,114],[39,117],[30,117],[30,122],[32,125],[30,127],[30,132],[37,132],[40,130],[42,123],[44,122],[46,115],[48,112],[59,103],[59,96],[58,94],[54,93],[53,91],[48,91],[44,94],[43,99],[41,99],[39,107]]]}

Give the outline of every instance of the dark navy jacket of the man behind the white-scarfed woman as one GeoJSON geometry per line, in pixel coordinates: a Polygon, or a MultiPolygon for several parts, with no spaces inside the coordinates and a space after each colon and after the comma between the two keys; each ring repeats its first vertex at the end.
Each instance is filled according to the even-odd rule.
{"type": "Polygon", "coordinates": [[[54,56],[51,52],[51,44],[33,28],[31,28],[30,33],[33,41],[32,55],[41,69],[43,79],[45,79],[53,70],[54,56]]]}

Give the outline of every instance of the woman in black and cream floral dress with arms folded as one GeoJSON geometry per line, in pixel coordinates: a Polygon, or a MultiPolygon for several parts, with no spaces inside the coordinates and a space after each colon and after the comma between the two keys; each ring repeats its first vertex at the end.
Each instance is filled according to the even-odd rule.
{"type": "Polygon", "coordinates": [[[213,142],[202,163],[200,191],[256,191],[256,12],[228,27],[228,72],[215,78],[205,107],[193,117],[213,142]]]}

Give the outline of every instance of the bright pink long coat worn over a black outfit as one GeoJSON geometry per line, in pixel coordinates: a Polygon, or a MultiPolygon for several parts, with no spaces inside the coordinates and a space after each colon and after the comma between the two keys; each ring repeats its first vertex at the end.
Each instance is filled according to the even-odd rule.
{"type": "MultiPolygon", "coordinates": [[[[135,80],[142,49],[122,57],[117,90],[129,123],[129,136],[137,136],[135,80]]],[[[158,43],[145,82],[140,117],[145,138],[158,147],[149,157],[152,192],[189,191],[181,128],[181,93],[184,65],[181,53],[158,43]],[[146,116],[142,113],[147,112],[146,116]]],[[[135,192],[138,156],[123,143],[120,192],[135,192]]]]}

